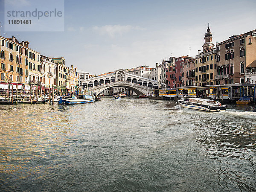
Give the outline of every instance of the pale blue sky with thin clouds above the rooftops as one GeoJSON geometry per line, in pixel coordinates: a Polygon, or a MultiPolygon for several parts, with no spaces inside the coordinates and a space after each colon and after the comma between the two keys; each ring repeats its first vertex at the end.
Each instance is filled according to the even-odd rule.
{"type": "Polygon", "coordinates": [[[224,41],[256,29],[255,7],[256,0],[65,0],[64,31],[10,32],[0,0],[0,35],[29,41],[42,55],[64,57],[67,67],[98,75],[155,67],[170,56],[195,57],[208,23],[212,42],[224,41]]]}

